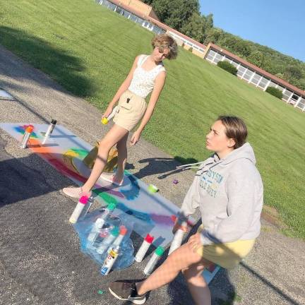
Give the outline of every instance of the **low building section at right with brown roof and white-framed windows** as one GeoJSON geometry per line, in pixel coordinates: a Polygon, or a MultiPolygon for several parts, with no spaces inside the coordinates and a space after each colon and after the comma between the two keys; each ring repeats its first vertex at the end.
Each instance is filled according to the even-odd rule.
{"type": "Polygon", "coordinates": [[[216,44],[209,43],[205,49],[204,59],[210,61],[212,64],[217,64],[218,61],[229,61],[230,64],[237,68],[237,77],[251,85],[255,85],[256,88],[266,90],[268,87],[275,87],[282,91],[285,102],[293,104],[294,107],[305,111],[305,91],[301,90],[294,85],[287,83],[281,78],[273,76],[273,74],[250,64],[248,61],[241,59],[216,44]]]}

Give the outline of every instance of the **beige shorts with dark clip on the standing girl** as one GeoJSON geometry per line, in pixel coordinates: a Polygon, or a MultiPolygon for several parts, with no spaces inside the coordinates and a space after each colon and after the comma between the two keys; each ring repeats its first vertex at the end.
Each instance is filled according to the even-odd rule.
{"type": "Polygon", "coordinates": [[[114,123],[131,131],[143,118],[147,104],[143,97],[126,90],[119,99],[119,110],[114,116],[114,123]]]}

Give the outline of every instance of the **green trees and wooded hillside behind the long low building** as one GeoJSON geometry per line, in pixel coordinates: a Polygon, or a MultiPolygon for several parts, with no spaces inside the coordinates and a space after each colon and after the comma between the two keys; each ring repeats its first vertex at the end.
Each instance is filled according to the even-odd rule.
{"type": "Polygon", "coordinates": [[[169,27],[202,44],[213,42],[251,64],[305,90],[304,61],[215,28],[213,14],[207,16],[201,14],[198,0],[143,0],[143,2],[152,6],[162,23],[169,27]]]}

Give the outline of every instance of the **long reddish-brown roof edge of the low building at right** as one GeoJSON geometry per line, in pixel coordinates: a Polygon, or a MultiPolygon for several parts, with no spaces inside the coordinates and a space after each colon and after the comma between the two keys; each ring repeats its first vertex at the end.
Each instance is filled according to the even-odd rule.
{"type": "Polygon", "coordinates": [[[241,59],[239,56],[234,55],[233,53],[227,51],[226,49],[222,49],[222,47],[218,47],[216,44],[210,43],[208,44],[208,47],[211,47],[213,49],[216,49],[217,51],[221,52],[222,54],[225,54],[229,57],[231,57],[232,59],[236,59],[237,61],[239,61],[241,64],[244,64],[245,66],[251,68],[252,70],[262,74],[263,76],[266,76],[268,78],[270,78],[270,80],[274,80],[276,83],[279,83],[280,85],[283,85],[284,87],[286,87],[289,90],[292,90],[293,92],[298,93],[299,95],[302,95],[303,97],[305,97],[305,91],[297,88],[296,86],[287,83],[287,81],[282,80],[282,78],[278,78],[277,76],[274,76],[273,74],[263,70],[262,68],[258,68],[258,66],[255,66],[253,64],[250,64],[248,61],[241,59]]]}

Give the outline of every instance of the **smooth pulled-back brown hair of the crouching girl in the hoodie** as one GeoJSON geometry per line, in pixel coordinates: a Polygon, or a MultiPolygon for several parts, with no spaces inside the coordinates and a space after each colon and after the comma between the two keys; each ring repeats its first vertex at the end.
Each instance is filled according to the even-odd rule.
{"type": "Polygon", "coordinates": [[[218,116],[217,121],[221,121],[225,126],[225,134],[228,138],[232,138],[235,141],[234,149],[240,148],[246,143],[246,137],[248,131],[246,124],[242,119],[237,116],[218,116]]]}

